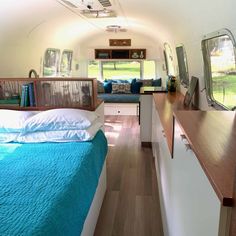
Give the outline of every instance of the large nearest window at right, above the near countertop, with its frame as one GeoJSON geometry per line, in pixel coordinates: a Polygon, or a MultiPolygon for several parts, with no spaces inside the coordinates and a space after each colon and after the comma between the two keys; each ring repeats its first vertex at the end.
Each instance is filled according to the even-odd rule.
{"type": "Polygon", "coordinates": [[[211,104],[232,109],[236,106],[235,41],[228,30],[207,35],[202,41],[205,82],[211,104]]]}

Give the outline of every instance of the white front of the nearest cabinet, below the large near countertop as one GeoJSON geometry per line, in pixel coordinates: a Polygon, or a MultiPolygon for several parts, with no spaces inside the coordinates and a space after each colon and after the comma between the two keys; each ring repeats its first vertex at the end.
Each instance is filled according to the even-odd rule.
{"type": "Polygon", "coordinates": [[[218,235],[221,203],[176,122],[172,160],[171,235],[218,235]]]}

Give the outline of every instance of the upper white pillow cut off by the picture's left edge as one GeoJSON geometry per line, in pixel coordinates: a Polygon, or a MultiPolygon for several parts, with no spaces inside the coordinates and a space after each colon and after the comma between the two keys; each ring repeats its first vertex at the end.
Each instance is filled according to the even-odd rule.
{"type": "Polygon", "coordinates": [[[21,132],[24,122],[35,114],[34,111],[0,109],[0,132],[21,132]]]}

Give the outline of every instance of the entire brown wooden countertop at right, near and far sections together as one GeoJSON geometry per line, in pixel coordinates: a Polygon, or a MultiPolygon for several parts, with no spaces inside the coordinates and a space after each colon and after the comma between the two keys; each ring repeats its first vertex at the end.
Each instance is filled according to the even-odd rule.
{"type": "Polygon", "coordinates": [[[197,111],[194,107],[185,107],[184,96],[179,92],[153,94],[153,99],[171,154],[174,115],[222,205],[232,206],[236,167],[236,113],[197,111]]]}

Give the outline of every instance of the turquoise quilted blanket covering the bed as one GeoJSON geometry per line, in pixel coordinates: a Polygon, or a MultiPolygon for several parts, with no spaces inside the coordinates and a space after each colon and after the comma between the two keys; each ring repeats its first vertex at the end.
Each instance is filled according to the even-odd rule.
{"type": "Polygon", "coordinates": [[[80,235],[107,154],[90,142],[0,144],[0,235],[80,235]]]}

